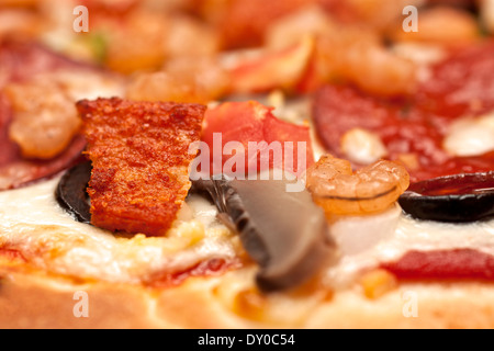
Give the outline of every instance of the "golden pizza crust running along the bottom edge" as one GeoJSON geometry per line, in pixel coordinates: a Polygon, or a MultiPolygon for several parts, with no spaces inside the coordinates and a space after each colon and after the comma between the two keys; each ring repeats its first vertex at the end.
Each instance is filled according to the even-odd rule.
{"type": "MultiPolygon", "coordinates": [[[[245,274],[240,269],[221,276],[190,278],[175,287],[150,288],[105,282],[78,283],[43,272],[2,268],[0,328],[494,328],[494,285],[483,282],[404,283],[378,299],[366,298],[357,288],[348,290],[311,305],[300,325],[256,321],[235,314],[217,294],[218,286],[228,280],[245,280],[245,274]],[[74,314],[79,303],[75,293],[80,291],[88,294],[88,317],[74,314]],[[407,292],[412,295],[406,295],[407,292]],[[411,299],[406,296],[416,297],[416,309],[408,308],[406,304],[411,299]]],[[[285,313],[289,316],[290,309],[285,313]]]]}

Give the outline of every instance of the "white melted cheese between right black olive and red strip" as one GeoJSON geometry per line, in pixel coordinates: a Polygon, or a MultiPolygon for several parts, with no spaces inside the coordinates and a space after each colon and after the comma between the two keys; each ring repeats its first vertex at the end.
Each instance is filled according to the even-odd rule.
{"type": "Polygon", "coordinates": [[[393,218],[393,211],[373,219],[346,218],[335,224],[344,226],[345,222],[351,223],[352,230],[343,235],[362,237],[369,245],[367,248],[360,247],[355,253],[344,252],[346,254],[341,256],[339,263],[327,271],[328,285],[347,286],[362,270],[375,268],[380,262],[398,260],[411,250],[469,248],[494,254],[494,219],[471,224],[439,223],[413,219],[403,213],[393,218]],[[391,222],[385,217],[391,217],[391,222]],[[373,233],[372,226],[379,227],[385,222],[388,228],[383,228],[383,233],[373,233]],[[373,235],[374,239],[367,238],[369,234],[373,235]]]}

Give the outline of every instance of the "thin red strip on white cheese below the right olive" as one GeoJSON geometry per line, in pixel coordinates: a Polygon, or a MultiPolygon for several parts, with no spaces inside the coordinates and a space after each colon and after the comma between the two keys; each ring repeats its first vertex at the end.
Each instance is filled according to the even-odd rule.
{"type": "Polygon", "coordinates": [[[494,281],[494,256],[472,249],[409,251],[381,267],[402,280],[494,281]]]}

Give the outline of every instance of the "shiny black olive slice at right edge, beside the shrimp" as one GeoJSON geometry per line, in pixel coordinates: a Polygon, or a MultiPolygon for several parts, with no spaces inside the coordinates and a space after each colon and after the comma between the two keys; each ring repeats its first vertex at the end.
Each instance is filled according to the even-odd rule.
{"type": "Polygon", "coordinates": [[[412,184],[400,197],[414,218],[470,223],[494,217],[494,172],[457,174],[412,184]]]}

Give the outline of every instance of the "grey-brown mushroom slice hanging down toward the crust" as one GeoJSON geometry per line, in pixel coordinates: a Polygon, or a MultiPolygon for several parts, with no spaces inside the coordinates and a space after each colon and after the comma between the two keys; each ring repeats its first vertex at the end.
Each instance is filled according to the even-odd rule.
{"type": "Polygon", "coordinates": [[[218,211],[228,216],[244,248],[259,264],[265,292],[294,287],[335,260],[323,212],[308,192],[288,192],[287,181],[199,180],[218,211]]]}

